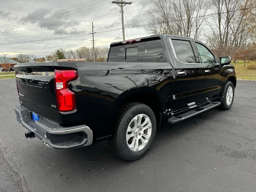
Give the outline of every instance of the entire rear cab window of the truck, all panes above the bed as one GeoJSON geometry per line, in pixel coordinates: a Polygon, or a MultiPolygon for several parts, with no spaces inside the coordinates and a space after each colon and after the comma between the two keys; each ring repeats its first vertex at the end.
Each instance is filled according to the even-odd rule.
{"type": "Polygon", "coordinates": [[[165,62],[161,40],[112,46],[108,62],[165,62]]]}

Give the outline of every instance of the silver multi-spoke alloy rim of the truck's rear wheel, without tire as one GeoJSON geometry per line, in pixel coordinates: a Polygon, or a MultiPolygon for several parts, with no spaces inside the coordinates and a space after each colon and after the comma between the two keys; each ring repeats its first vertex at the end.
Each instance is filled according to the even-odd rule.
{"type": "Polygon", "coordinates": [[[150,140],[152,124],[145,114],[136,115],[130,122],[126,131],[126,143],[130,150],[142,150],[150,140]]]}

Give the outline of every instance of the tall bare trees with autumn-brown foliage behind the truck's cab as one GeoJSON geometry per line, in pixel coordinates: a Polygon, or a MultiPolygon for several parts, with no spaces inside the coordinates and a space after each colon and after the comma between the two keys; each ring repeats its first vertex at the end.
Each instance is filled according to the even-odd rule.
{"type": "Polygon", "coordinates": [[[256,0],[152,0],[150,34],[202,40],[216,56],[256,60],[256,0]]]}

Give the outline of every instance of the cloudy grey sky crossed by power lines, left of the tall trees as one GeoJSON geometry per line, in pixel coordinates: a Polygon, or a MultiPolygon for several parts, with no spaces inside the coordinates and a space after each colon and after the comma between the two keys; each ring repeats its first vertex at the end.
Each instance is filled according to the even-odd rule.
{"type": "MultiPolygon", "coordinates": [[[[127,0],[126,0],[127,1],[127,0]]],[[[15,56],[17,52],[35,52],[44,56],[57,48],[73,49],[92,46],[94,23],[95,46],[109,46],[122,40],[120,7],[112,0],[5,0],[0,5],[0,55],[15,56]],[[104,16],[105,15],[105,16],[104,16]],[[103,32],[115,30],[111,32],[103,32]],[[82,36],[76,36],[82,35],[82,36]],[[18,44],[3,44],[76,36],[18,44]],[[39,53],[41,52],[41,53],[39,53]]],[[[124,7],[124,26],[147,24],[146,10],[150,0],[134,0],[124,7]]],[[[126,28],[126,40],[148,36],[143,27],[126,28]]]]}

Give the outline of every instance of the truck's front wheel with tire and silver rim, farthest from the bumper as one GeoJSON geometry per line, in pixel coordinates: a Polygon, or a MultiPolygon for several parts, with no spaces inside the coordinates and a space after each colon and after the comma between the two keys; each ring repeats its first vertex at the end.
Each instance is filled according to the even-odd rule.
{"type": "Polygon", "coordinates": [[[234,101],[235,88],[231,81],[226,82],[224,91],[221,98],[221,108],[223,110],[228,110],[231,108],[234,101]]]}

